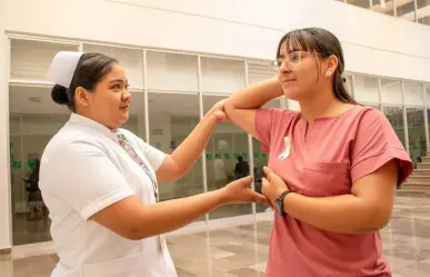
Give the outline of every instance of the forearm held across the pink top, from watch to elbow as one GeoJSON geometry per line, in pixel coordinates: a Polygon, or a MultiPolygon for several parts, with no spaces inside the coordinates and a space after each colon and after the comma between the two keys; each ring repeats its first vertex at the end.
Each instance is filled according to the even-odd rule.
{"type": "Polygon", "coordinates": [[[318,198],[290,194],[283,207],[288,216],[317,228],[351,235],[381,229],[387,224],[381,218],[389,218],[387,212],[390,212],[353,195],[318,198]]]}

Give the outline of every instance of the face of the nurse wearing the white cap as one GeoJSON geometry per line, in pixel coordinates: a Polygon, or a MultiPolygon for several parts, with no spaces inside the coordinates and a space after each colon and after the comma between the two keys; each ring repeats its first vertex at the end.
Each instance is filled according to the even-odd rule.
{"type": "Polygon", "coordinates": [[[117,129],[129,119],[131,95],[128,87],[126,70],[119,63],[113,63],[93,90],[78,88],[77,100],[84,107],[89,118],[117,129]]]}

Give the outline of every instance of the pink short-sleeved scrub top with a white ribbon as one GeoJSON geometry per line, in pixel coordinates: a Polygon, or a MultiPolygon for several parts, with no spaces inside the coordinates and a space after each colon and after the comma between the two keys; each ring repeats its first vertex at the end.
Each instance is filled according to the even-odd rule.
{"type": "MultiPolygon", "coordinates": [[[[413,170],[390,122],[372,108],[354,106],[342,115],[319,118],[308,133],[300,112],[259,109],[256,128],[262,151],[270,155],[269,167],[291,191],[304,196],[351,194],[357,179],[392,159],[400,166],[399,185],[413,170]],[[290,155],[281,159],[286,137],[290,155]]],[[[381,250],[378,231],[336,234],[276,214],[267,277],[391,276],[381,250]]]]}

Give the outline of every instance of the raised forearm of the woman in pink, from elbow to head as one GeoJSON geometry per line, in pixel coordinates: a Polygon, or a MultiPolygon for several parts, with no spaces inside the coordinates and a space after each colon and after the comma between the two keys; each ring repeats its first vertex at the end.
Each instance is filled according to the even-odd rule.
{"type": "Polygon", "coordinates": [[[283,89],[278,79],[261,81],[232,95],[226,102],[226,111],[229,108],[257,109],[282,95],[283,89]]]}

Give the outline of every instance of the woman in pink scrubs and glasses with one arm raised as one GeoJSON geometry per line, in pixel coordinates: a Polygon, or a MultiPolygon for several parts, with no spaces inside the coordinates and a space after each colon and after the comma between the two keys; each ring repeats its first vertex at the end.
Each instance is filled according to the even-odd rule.
{"type": "Polygon", "coordinates": [[[287,33],[274,67],[277,79],[238,91],[224,106],[270,154],[263,194],[277,212],[267,277],[391,276],[379,230],[412,171],[408,152],[380,111],[348,93],[331,32],[287,33]],[[260,108],[282,95],[300,111],[260,108]]]}

